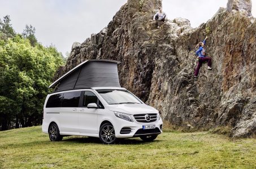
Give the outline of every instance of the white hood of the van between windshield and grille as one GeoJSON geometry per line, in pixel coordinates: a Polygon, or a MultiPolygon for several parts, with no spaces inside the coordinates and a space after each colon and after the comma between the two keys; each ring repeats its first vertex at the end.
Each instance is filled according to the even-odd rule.
{"type": "Polygon", "coordinates": [[[113,104],[109,110],[127,114],[158,113],[158,110],[146,104],[113,104]]]}

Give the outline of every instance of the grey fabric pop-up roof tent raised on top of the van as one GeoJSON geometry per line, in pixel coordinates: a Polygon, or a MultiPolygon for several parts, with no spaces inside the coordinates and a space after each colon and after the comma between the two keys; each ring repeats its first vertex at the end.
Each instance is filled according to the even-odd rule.
{"type": "Polygon", "coordinates": [[[119,61],[86,60],[64,74],[49,88],[54,92],[92,87],[120,87],[118,78],[119,61]]]}

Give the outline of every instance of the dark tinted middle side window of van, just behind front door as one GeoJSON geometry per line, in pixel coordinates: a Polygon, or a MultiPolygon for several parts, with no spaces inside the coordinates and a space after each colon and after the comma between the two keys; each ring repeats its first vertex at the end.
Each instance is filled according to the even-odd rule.
{"type": "Polygon", "coordinates": [[[77,108],[79,106],[80,94],[81,91],[64,93],[62,107],[77,108]]]}

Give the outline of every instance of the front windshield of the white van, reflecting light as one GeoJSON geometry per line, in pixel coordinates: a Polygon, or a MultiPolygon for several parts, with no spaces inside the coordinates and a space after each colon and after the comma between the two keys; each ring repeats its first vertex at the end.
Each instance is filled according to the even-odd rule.
{"type": "Polygon", "coordinates": [[[97,92],[108,104],[141,104],[141,102],[127,90],[111,89],[97,90],[97,92]]]}

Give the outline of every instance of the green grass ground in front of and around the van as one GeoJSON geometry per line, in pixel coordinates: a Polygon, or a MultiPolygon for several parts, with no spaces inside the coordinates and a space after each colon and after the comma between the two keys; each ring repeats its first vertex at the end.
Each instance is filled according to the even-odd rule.
{"type": "Polygon", "coordinates": [[[0,132],[0,168],[256,168],[256,139],[164,132],[103,145],[97,138],[50,142],[41,126],[0,132]]]}

